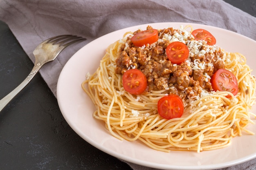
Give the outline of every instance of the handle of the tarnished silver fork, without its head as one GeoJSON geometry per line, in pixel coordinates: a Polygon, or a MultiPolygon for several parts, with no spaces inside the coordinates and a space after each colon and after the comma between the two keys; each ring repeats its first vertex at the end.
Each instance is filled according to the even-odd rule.
{"type": "Polygon", "coordinates": [[[0,112],[1,110],[15,97],[27,84],[31,81],[31,79],[36,75],[38,70],[42,67],[40,63],[34,65],[32,71],[26,77],[26,79],[20,83],[13,91],[11,91],[8,95],[0,100],[0,112]]]}

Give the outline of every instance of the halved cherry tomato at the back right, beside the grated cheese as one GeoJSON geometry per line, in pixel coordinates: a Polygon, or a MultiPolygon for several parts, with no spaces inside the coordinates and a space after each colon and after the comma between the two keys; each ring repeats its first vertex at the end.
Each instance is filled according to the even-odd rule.
{"type": "Polygon", "coordinates": [[[195,29],[194,31],[192,31],[191,34],[194,36],[195,40],[205,40],[207,41],[208,45],[216,44],[215,37],[213,37],[213,35],[209,33],[209,31],[206,31],[204,29],[195,29]]]}

